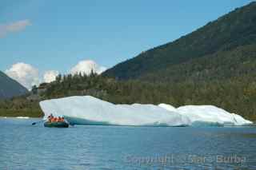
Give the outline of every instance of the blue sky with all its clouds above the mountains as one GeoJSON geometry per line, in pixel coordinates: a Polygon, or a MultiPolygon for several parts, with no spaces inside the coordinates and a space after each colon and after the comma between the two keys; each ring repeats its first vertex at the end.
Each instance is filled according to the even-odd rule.
{"type": "Polygon", "coordinates": [[[1,0],[0,70],[30,89],[58,73],[102,73],[251,0],[1,0]]]}

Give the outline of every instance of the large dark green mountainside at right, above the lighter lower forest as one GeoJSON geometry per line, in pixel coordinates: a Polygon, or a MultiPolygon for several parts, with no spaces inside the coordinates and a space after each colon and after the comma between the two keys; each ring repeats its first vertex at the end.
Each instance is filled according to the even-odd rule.
{"type": "Polygon", "coordinates": [[[140,53],[102,73],[119,80],[209,81],[256,71],[256,2],[174,42],[140,53]]]}

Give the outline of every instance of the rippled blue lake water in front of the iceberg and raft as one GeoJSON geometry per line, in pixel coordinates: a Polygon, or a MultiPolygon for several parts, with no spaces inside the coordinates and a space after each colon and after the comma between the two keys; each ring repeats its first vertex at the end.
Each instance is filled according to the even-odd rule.
{"type": "Polygon", "coordinates": [[[32,126],[0,118],[0,169],[256,169],[256,128],[32,126]]]}

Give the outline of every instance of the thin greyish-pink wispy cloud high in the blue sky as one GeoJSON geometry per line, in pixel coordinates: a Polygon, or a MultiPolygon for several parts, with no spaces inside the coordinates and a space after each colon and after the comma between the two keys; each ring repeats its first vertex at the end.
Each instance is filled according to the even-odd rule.
{"type": "Polygon", "coordinates": [[[20,20],[18,22],[10,22],[8,24],[0,25],[0,38],[3,38],[8,33],[14,33],[26,29],[26,26],[31,26],[31,22],[28,19],[20,20]]]}

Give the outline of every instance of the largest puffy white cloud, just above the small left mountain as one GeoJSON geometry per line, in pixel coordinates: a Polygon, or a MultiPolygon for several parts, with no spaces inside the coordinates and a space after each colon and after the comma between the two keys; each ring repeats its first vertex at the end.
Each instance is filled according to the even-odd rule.
{"type": "Polygon", "coordinates": [[[38,69],[32,65],[18,62],[6,69],[6,74],[22,84],[26,89],[31,89],[33,85],[39,84],[38,69]]]}

